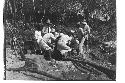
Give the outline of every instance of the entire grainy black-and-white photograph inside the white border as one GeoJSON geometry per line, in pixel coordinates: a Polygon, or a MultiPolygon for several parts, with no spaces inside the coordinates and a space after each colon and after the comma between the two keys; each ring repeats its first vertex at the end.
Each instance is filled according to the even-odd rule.
{"type": "Polygon", "coordinates": [[[4,80],[116,81],[116,0],[4,0],[4,80]]]}

